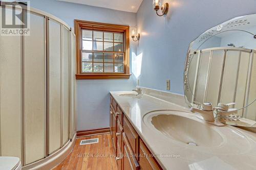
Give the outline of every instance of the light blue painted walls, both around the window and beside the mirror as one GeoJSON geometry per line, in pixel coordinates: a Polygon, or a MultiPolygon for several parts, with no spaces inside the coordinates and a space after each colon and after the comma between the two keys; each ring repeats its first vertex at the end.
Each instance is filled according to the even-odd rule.
{"type": "MultiPolygon", "coordinates": [[[[143,0],[137,14],[105,8],[58,2],[31,0],[32,7],[49,12],[73,27],[74,19],[118,23],[138,27],[141,39],[132,41],[132,70],[140,69],[140,86],[165,90],[166,80],[171,90],[183,93],[183,69],[188,45],[201,33],[236,16],[256,13],[254,0],[165,0],[170,10],[159,17],[152,0],[143,0]],[[136,67],[136,68],[135,68],[136,67]]],[[[79,80],[77,82],[77,129],[109,126],[109,91],[131,90],[130,80],[79,80]]]]}

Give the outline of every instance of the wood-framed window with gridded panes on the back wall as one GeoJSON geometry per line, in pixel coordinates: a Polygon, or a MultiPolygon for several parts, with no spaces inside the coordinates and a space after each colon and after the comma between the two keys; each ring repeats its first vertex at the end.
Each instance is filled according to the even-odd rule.
{"type": "Polygon", "coordinates": [[[129,79],[129,26],[75,20],[77,79],[129,79]]]}

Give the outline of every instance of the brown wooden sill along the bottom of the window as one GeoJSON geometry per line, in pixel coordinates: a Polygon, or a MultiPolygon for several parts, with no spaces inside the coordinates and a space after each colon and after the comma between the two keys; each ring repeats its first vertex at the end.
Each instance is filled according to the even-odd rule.
{"type": "Polygon", "coordinates": [[[76,79],[130,79],[130,74],[77,74],[76,79]]]}

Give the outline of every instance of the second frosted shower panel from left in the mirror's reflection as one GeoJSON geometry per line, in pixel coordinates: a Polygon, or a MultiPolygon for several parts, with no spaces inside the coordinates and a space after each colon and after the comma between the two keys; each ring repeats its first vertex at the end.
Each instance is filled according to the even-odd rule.
{"type": "Polygon", "coordinates": [[[196,100],[197,102],[204,103],[204,94],[206,90],[207,74],[210,62],[210,52],[201,54],[200,69],[198,74],[196,100]]]}

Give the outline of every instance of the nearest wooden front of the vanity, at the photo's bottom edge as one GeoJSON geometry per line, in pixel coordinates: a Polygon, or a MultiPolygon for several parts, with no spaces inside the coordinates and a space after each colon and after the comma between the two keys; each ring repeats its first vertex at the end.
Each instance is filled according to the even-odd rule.
{"type": "Polygon", "coordinates": [[[160,170],[162,169],[157,163],[153,154],[147,149],[144,142],[140,139],[140,169],[141,170],[160,170]]]}

